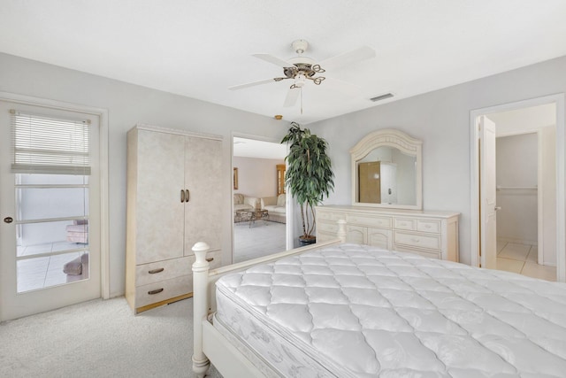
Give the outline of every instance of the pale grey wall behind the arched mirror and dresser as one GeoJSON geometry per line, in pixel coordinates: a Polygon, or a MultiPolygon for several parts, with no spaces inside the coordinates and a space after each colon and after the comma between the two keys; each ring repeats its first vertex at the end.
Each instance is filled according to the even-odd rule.
{"type": "Polygon", "coordinates": [[[470,263],[470,111],[566,92],[566,57],[310,124],[329,143],[335,190],[350,204],[348,150],[363,136],[397,128],[423,140],[425,210],[460,212],[460,261],[470,263]]]}

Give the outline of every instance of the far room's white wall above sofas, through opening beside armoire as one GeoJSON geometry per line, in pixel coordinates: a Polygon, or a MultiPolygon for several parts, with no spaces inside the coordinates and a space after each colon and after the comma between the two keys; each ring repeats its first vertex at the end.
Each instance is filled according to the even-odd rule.
{"type": "Polygon", "coordinates": [[[238,168],[238,189],[249,197],[277,196],[277,165],[285,164],[285,160],[270,158],[233,157],[233,166],[238,168]]]}

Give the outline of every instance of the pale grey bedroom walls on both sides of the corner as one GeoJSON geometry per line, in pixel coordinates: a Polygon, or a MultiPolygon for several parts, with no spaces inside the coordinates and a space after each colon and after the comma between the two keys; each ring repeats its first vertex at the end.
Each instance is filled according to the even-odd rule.
{"type": "MultiPolygon", "coordinates": [[[[226,216],[223,258],[231,251],[231,133],[279,141],[287,123],[0,53],[0,91],[109,110],[111,295],[124,292],[126,131],[138,122],[224,136],[226,216]]],[[[310,124],[329,142],[336,175],[326,204],[350,204],[348,150],[381,128],[424,141],[423,205],[461,212],[460,261],[470,263],[470,111],[566,92],[566,57],[310,124]]],[[[295,217],[296,218],[296,217],[295,217]]],[[[297,234],[295,229],[295,234],[297,234]]]]}

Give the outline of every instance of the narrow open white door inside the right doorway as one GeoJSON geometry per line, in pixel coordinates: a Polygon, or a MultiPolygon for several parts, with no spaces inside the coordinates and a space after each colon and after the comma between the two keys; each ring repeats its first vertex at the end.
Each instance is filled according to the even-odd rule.
{"type": "Polygon", "coordinates": [[[497,267],[497,217],[495,181],[495,124],[486,116],[478,118],[479,127],[479,212],[481,266],[497,267]]]}

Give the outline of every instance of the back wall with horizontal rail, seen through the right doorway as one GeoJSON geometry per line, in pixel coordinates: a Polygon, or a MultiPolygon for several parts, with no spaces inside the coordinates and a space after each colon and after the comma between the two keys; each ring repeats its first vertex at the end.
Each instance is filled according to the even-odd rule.
{"type": "Polygon", "coordinates": [[[538,135],[501,136],[496,140],[497,239],[538,243],[538,135]]]}

